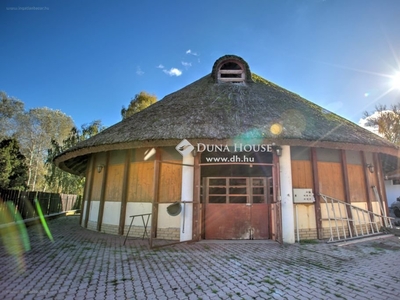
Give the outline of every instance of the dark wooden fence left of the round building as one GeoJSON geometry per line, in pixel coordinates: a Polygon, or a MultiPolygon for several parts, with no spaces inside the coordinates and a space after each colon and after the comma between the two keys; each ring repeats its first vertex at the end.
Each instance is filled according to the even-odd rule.
{"type": "MultiPolygon", "coordinates": [[[[16,210],[13,214],[14,220],[17,216],[17,211],[22,219],[38,217],[38,212],[36,211],[34,203],[35,198],[38,200],[44,215],[79,209],[81,202],[81,196],[78,195],[0,189],[0,204],[2,201],[11,201],[14,204],[16,210]]],[[[0,213],[1,210],[5,209],[7,208],[4,205],[0,205],[0,213]]],[[[2,221],[3,220],[0,220],[0,223],[2,223],[2,221]]]]}

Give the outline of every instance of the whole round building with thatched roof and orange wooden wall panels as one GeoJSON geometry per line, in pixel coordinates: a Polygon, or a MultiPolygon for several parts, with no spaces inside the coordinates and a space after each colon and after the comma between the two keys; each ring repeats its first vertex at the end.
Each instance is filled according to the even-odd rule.
{"type": "Polygon", "coordinates": [[[147,226],[150,238],[173,241],[294,243],[332,238],[339,227],[340,236],[385,226],[382,159],[398,154],[394,144],[227,55],[211,74],[55,163],[86,177],[85,228],[142,236],[147,226]]]}

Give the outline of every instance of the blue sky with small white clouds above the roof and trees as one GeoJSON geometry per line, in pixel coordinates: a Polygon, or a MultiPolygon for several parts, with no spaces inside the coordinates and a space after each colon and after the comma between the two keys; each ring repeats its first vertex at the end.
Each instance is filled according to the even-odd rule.
{"type": "Polygon", "coordinates": [[[0,90],[110,126],[140,91],[162,99],[235,54],[358,123],[400,102],[399,12],[398,0],[3,0],[0,90]]]}

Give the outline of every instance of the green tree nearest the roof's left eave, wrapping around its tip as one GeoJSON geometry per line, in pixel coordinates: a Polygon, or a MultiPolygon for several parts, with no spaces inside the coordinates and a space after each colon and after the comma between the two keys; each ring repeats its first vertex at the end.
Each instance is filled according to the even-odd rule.
{"type": "Polygon", "coordinates": [[[89,124],[82,125],[81,130],[76,127],[71,128],[68,137],[61,143],[54,139],[51,141],[51,148],[48,149],[46,160],[47,175],[45,176],[49,191],[77,195],[83,194],[83,186],[85,183],[84,177],[73,175],[57,168],[54,165],[53,160],[57,155],[61,154],[68,148],[98,134],[104,129],[105,126],[101,124],[101,121],[96,120],[89,124]]]}

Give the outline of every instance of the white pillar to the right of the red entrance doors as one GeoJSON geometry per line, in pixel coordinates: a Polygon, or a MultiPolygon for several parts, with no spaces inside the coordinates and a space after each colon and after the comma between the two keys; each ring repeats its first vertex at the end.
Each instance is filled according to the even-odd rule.
{"type": "Polygon", "coordinates": [[[281,147],[282,155],[279,157],[279,167],[282,195],[282,240],[284,243],[294,244],[294,208],[290,146],[281,147]]]}

